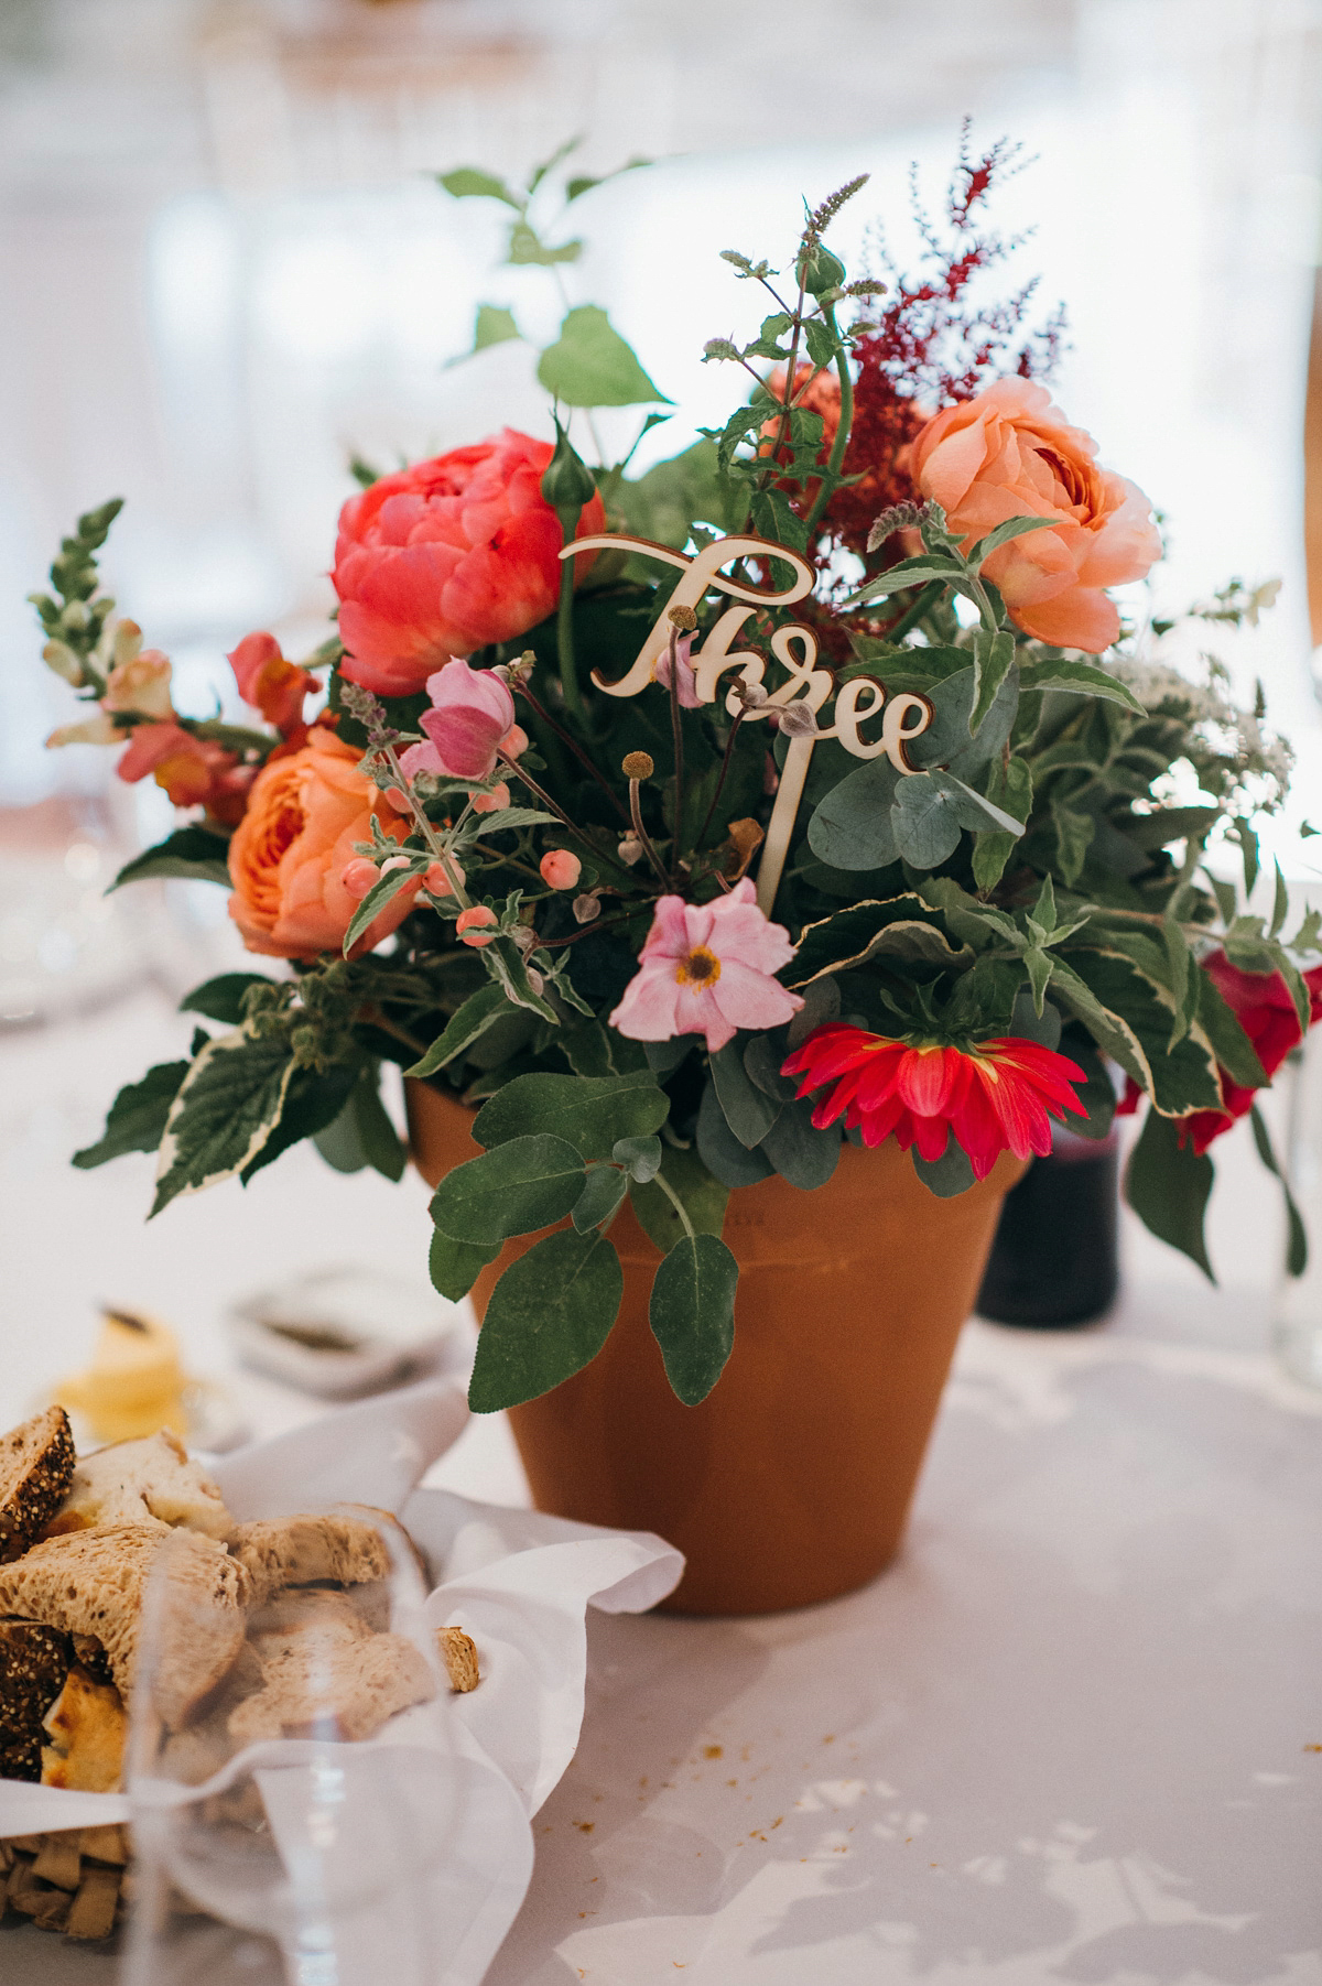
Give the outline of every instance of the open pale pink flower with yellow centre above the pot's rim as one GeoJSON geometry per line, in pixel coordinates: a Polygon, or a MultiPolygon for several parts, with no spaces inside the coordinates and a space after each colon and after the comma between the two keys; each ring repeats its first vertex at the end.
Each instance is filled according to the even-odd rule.
{"type": "Polygon", "coordinates": [[[762,916],[748,878],[713,904],[663,896],[611,1027],[631,1041],[703,1035],[725,1049],[736,1029],[780,1027],[804,1005],[772,977],[792,957],[790,933],[762,916]]]}

